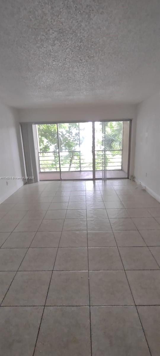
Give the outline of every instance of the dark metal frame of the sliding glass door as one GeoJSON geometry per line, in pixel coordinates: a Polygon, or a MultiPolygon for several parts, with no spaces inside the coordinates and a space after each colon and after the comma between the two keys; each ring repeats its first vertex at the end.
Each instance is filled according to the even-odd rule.
{"type": "MultiPolygon", "coordinates": [[[[85,178],[85,180],[101,180],[101,179],[127,179],[129,178],[129,169],[130,169],[130,145],[131,145],[131,130],[132,130],[132,119],[119,119],[119,120],[95,120],[95,121],[90,121],[90,120],[86,120],[86,121],[77,121],[77,120],[71,120],[69,121],[69,123],[85,123],[85,122],[92,122],[92,178],[85,178]],[[120,177],[120,178],[108,178],[106,177],[106,172],[104,173],[104,177],[102,175],[102,178],[96,178],[96,167],[95,167],[95,122],[118,122],[118,121],[129,121],[129,138],[128,138],[128,168],[127,168],[127,177],[120,177]]],[[[58,141],[58,158],[59,158],[59,175],[60,175],[60,179],[54,179],[54,180],[84,180],[83,178],[79,178],[79,179],[62,179],[62,175],[61,175],[61,166],[60,166],[60,147],[59,147],[59,130],[58,130],[58,124],[63,124],[63,123],[67,123],[68,122],[64,122],[64,121],[49,121],[49,122],[33,122],[33,125],[52,125],[52,124],[56,124],[57,125],[57,141],[58,141]]],[[[106,169],[106,167],[104,167],[104,169],[106,169]]]]}

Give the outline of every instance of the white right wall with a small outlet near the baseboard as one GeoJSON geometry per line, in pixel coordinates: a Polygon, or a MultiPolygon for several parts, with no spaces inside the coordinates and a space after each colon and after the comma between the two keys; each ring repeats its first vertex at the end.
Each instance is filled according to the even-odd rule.
{"type": "Polygon", "coordinates": [[[137,108],[134,174],[160,201],[160,93],[137,108]]]}

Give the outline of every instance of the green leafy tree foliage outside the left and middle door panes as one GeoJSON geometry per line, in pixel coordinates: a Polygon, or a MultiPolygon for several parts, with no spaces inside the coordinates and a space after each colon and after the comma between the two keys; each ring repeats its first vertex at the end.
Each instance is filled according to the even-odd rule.
{"type": "MultiPolygon", "coordinates": [[[[59,171],[57,124],[38,126],[41,171],[59,171]],[[53,159],[52,159],[53,157],[53,159]]],[[[60,165],[63,171],[80,169],[80,132],[78,123],[58,124],[60,165]]]]}

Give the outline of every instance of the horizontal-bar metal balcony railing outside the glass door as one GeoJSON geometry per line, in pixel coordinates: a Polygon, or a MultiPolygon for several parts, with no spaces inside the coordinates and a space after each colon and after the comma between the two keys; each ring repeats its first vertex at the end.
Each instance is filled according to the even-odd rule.
{"type": "MultiPolygon", "coordinates": [[[[92,152],[38,152],[40,172],[92,171],[92,152]]],[[[122,169],[122,150],[96,150],[95,170],[122,169]]]]}

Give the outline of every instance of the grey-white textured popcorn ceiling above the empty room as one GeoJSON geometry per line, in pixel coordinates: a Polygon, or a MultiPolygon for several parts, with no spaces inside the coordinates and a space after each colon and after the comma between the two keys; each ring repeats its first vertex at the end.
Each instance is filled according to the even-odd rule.
{"type": "Polygon", "coordinates": [[[159,0],[0,0],[0,98],[138,103],[160,88],[159,0]]]}

